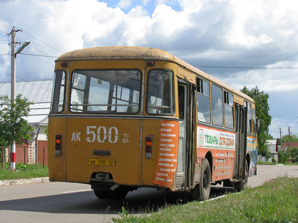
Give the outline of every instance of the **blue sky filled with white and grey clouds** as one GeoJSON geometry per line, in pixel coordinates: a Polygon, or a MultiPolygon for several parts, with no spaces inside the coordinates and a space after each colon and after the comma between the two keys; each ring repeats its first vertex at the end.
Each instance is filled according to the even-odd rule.
{"type": "Polygon", "coordinates": [[[0,0],[0,81],[10,81],[13,26],[23,30],[18,42],[30,41],[16,57],[17,81],[53,78],[54,60],[76,49],[159,48],[238,90],[257,86],[269,95],[269,133],[297,134],[297,8],[296,0],[0,0]]]}

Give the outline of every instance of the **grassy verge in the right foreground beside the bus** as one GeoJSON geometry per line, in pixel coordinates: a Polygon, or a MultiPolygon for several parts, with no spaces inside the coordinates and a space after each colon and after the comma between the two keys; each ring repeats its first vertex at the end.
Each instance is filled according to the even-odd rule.
{"type": "Polygon", "coordinates": [[[262,186],[209,202],[167,205],[158,212],[132,216],[122,208],[115,223],[298,222],[298,178],[278,177],[262,186]]]}

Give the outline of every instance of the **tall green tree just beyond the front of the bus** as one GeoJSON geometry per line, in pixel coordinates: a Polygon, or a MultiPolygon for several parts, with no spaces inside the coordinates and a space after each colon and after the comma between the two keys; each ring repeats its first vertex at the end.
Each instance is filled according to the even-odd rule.
{"type": "Polygon", "coordinates": [[[241,92],[251,97],[256,103],[256,116],[261,119],[261,131],[258,135],[258,154],[263,156],[269,155],[268,147],[266,145],[266,139],[268,137],[269,125],[271,124],[271,115],[269,114],[268,98],[269,95],[260,91],[256,86],[252,89],[248,89],[246,86],[240,89],[241,92]]]}

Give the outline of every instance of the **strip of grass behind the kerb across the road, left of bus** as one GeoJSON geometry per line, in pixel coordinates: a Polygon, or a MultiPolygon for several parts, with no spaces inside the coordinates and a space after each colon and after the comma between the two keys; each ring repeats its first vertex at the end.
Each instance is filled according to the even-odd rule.
{"type": "Polygon", "coordinates": [[[48,177],[49,170],[43,164],[15,164],[15,171],[8,169],[9,164],[4,163],[4,169],[0,166],[0,180],[30,179],[48,177]]]}

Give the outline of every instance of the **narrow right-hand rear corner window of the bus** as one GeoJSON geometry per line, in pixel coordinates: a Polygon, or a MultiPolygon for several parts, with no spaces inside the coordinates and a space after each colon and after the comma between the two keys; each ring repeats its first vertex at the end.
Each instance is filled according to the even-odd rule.
{"type": "Polygon", "coordinates": [[[148,79],[147,112],[175,114],[174,81],[170,70],[151,70],[148,79]]]}

